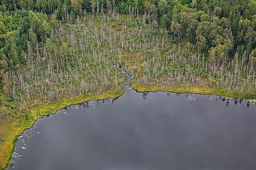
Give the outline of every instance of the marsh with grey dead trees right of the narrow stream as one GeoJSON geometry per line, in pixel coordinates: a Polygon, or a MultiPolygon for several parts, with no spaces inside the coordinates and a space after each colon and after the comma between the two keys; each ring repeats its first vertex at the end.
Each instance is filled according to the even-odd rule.
{"type": "Polygon", "coordinates": [[[129,16],[128,20],[120,14],[90,17],[87,25],[133,75],[134,84],[151,90],[157,87],[181,93],[256,98],[256,65],[245,57],[212,60],[211,54],[198,53],[197,45],[188,38],[174,42],[166,30],[156,21],[147,21],[145,15],[129,16]]]}

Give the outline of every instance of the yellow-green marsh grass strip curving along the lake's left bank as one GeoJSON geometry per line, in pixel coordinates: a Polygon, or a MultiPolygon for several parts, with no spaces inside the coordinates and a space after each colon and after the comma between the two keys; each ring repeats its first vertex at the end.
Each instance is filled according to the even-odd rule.
{"type": "Polygon", "coordinates": [[[113,91],[106,91],[105,93],[101,94],[78,95],[72,98],[58,99],[38,105],[30,105],[29,107],[22,108],[20,110],[24,115],[27,116],[22,116],[20,118],[13,117],[1,120],[1,134],[4,133],[4,140],[0,147],[0,169],[3,169],[8,165],[8,161],[11,158],[12,150],[14,148],[17,137],[20,136],[25,129],[31,128],[35,121],[39,118],[43,118],[49,114],[54,114],[58,110],[66,108],[70,105],[81,104],[90,100],[102,100],[108,98],[114,99],[118,98],[118,96],[122,95],[123,93],[124,88],[117,88],[113,91]]]}

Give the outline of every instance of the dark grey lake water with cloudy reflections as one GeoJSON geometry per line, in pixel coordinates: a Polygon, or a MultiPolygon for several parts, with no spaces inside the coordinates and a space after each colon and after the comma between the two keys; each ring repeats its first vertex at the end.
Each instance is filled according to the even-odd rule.
{"type": "Polygon", "coordinates": [[[12,160],[21,170],[255,170],[256,105],[228,104],[130,89],[38,120],[12,160]]]}

